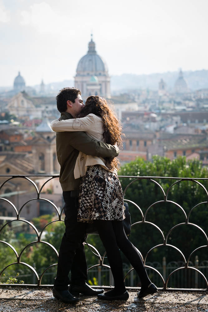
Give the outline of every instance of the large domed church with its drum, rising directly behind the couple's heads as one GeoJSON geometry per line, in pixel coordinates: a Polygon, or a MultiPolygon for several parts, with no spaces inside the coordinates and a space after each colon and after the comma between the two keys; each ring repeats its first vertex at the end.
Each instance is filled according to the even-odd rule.
{"type": "Polygon", "coordinates": [[[104,60],[97,54],[95,43],[91,39],[89,49],[76,70],[75,88],[79,88],[86,99],[90,95],[110,98],[110,76],[104,60]]]}

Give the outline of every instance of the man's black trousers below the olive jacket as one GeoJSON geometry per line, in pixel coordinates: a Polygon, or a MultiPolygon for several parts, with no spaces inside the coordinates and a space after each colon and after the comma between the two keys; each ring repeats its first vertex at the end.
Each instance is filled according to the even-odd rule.
{"type": "Polygon", "coordinates": [[[61,241],[57,274],[54,286],[66,290],[69,283],[80,285],[87,279],[87,263],[84,250],[86,223],[77,222],[78,198],[71,192],[63,192],[65,233],[61,241]],[[71,280],[68,275],[71,271],[71,280]]]}

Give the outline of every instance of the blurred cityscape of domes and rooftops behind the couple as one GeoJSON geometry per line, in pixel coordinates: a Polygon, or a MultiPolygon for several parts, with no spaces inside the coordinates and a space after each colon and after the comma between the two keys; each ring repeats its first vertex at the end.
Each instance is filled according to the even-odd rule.
{"type": "MultiPolygon", "coordinates": [[[[203,166],[208,165],[208,71],[180,69],[164,74],[110,77],[107,64],[91,38],[87,54],[77,65],[74,81],[46,85],[42,80],[39,85],[27,86],[27,77],[19,72],[13,87],[0,87],[2,175],[59,173],[56,133],[50,122],[60,116],[55,97],[66,86],[78,87],[84,100],[95,94],[114,105],[125,134],[119,155],[121,164],[137,157],[151,161],[153,155],[160,155],[171,160],[178,156],[186,156],[187,160],[196,158],[203,166]]],[[[0,179],[2,183],[5,177],[0,179]]],[[[42,185],[44,179],[36,177],[35,182],[42,185]]],[[[11,200],[18,210],[27,201],[26,197],[36,197],[36,192],[27,180],[18,179],[18,183],[16,180],[2,187],[0,197],[11,200]],[[24,194],[22,201],[21,194],[24,194]]],[[[63,207],[58,178],[48,182],[42,192],[44,198],[63,207]]],[[[51,209],[49,202],[29,202],[22,217],[30,221],[52,213],[51,209]]],[[[13,216],[11,205],[1,202],[2,222],[13,216]]]]}

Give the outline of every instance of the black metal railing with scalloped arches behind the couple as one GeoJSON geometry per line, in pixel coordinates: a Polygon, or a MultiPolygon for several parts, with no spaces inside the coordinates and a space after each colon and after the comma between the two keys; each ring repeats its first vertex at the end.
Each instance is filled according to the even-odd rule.
{"type": "MultiPolygon", "coordinates": [[[[31,176],[27,176],[27,175],[0,175],[0,178],[3,178],[5,179],[4,182],[0,185],[0,194],[2,193],[2,188],[5,186],[5,184],[7,182],[12,182],[14,181],[15,179],[17,178],[21,178],[21,179],[25,179],[28,181],[28,183],[31,183],[32,187],[34,188],[35,192],[36,192],[36,197],[35,198],[31,198],[30,200],[27,200],[26,202],[24,202],[24,204],[20,207],[19,211],[17,210],[17,207],[14,205],[14,203],[12,203],[10,200],[8,200],[7,198],[4,198],[4,197],[1,197],[0,195],[0,200],[1,201],[5,201],[7,202],[8,204],[11,205],[11,207],[13,208],[14,212],[15,212],[15,215],[16,217],[14,217],[12,220],[6,222],[1,228],[0,228],[0,244],[5,244],[6,246],[9,246],[12,251],[14,252],[16,258],[17,258],[17,261],[16,262],[12,262],[10,263],[9,265],[7,265],[6,267],[1,267],[1,264],[0,264],[0,277],[2,276],[2,274],[4,273],[4,271],[9,267],[9,266],[12,266],[12,265],[16,265],[16,264],[21,264],[21,265],[24,265],[26,266],[27,268],[29,268],[33,273],[34,275],[36,276],[36,280],[37,280],[37,283],[35,285],[42,285],[41,284],[41,280],[43,278],[43,275],[47,272],[48,269],[56,266],[57,264],[54,264],[54,263],[51,263],[50,266],[48,266],[43,272],[41,272],[41,274],[38,274],[35,267],[32,267],[31,265],[27,264],[26,262],[22,262],[21,261],[21,256],[23,254],[23,252],[26,250],[27,247],[29,246],[32,246],[34,244],[46,244],[47,246],[49,246],[55,253],[56,253],[56,256],[58,258],[58,251],[56,250],[56,248],[54,246],[52,246],[50,243],[48,243],[47,241],[43,241],[41,240],[41,236],[43,234],[43,231],[46,229],[46,227],[53,223],[53,222],[60,222],[60,221],[63,221],[63,219],[61,218],[62,217],[62,213],[63,213],[63,209],[60,211],[58,209],[58,207],[56,207],[56,205],[50,201],[49,199],[46,199],[44,197],[42,197],[42,195],[44,196],[44,194],[41,195],[41,191],[43,190],[44,186],[46,185],[46,183],[48,183],[51,179],[54,179],[54,178],[58,178],[59,176],[58,175],[31,175],[31,176]],[[43,185],[41,185],[41,187],[38,188],[37,184],[32,180],[32,178],[47,178],[46,182],[43,183],[43,185]],[[27,220],[24,220],[24,219],[21,219],[21,212],[22,212],[22,209],[31,201],[34,201],[34,200],[44,200],[48,203],[50,203],[56,213],[57,213],[57,220],[54,220],[52,222],[49,222],[46,226],[43,227],[42,231],[41,232],[38,232],[37,228],[29,221],[27,220]],[[37,236],[37,239],[35,241],[32,241],[31,243],[27,244],[23,249],[22,251],[20,251],[20,253],[18,254],[16,249],[11,245],[9,244],[7,241],[4,241],[4,237],[1,237],[1,233],[2,233],[2,230],[11,224],[11,222],[14,222],[14,221],[19,221],[19,222],[25,222],[28,227],[31,227],[35,233],[36,233],[36,236],[37,236]]],[[[173,178],[173,177],[135,177],[135,176],[119,176],[120,179],[129,179],[130,180],[130,183],[126,186],[123,194],[124,194],[124,198],[125,198],[125,194],[127,192],[127,189],[133,184],[135,183],[136,181],[138,180],[148,180],[150,181],[151,183],[154,183],[162,192],[162,196],[163,196],[163,200],[160,200],[160,201],[157,201],[157,202],[154,202],[152,203],[145,211],[145,213],[143,213],[142,209],[138,206],[137,203],[131,201],[130,199],[128,198],[125,198],[125,201],[128,202],[129,204],[131,204],[135,209],[138,210],[139,214],[141,215],[141,221],[138,221],[138,222],[134,222],[132,224],[132,228],[135,227],[136,225],[138,224],[149,224],[151,226],[153,226],[162,236],[162,244],[157,244],[155,246],[152,246],[152,248],[145,254],[145,255],[142,255],[141,252],[140,252],[140,255],[143,259],[143,262],[144,262],[144,265],[145,267],[147,268],[147,270],[152,270],[154,272],[154,274],[158,275],[159,278],[162,280],[162,284],[163,284],[163,289],[164,290],[167,290],[169,289],[168,288],[168,281],[170,280],[170,277],[172,275],[174,275],[176,272],[178,273],[178,271],[181,271],[181,270],[193,270],[195,272],[195,275],[201,275],[202,279],[205,281],[205,285],[206,285],[206,289],[208,290],[208,282],[207,282],[207,278],[206,276],[199,270],[199,267],[197,266],[193,266],[191,264],[191,256],[193,256],[193,254],[196,252],[196,251],[199,251],[203,248],[207,248],[208,247],[208,238],[207,238],[207,233],[197,224],[194,224],[194,223],[191,223],[189,222],[189,218],[191,216],[191,213],[193,212],[193,210],[196,209],[196,207],[199,207],[201,204],[207,204],[208,203],[208,192],[207,192],[207,189],[206,187],[203,185],[205,183],[207,183],[208,179],[206,178],[173,178]],[[170,187],[167,189],[167,191],[165,192],[164,189],[162,188],[162,186],[160,185],[160,183],[158,183],[156,180],[159,181],[163,181],[163,179],[172,179],[174,182],[170,185],[170,187]],[[203,202],[199,202],[197,203],[194,207],[190,207],[190,211],[188,214],[186,214],[185,210],[183,209],[183,207],[181,207],[181,205],[179,205],[177,202],[174,202],[174,201],[171,201],[171,200],[168,200],[168,195],[169,193],[171,192],[171,190],[174,188],[174,186],[178,183],[181,183],[183,181],[190,181],[190,182],[193,182],[193,183],[196,183],[198,184],[202,189],[203,189],[203,192],[205,192],[206,194],[206,201],[203,201],[203,202]],[[199,182],[200,181],[200,182],[199,182]],[[203,184],[202,184],[203,183],[203,184]],[[174,204],[176,205],[176,207],[182,212],[184,218],[185,218],[185,222],[182,222],[182,223],[179,223],[175,226],[173,226],[172,228],[169,229],[168,233],[164,236],[164,233],[162,231],[162,229],[160,227],[158,227],[156,224],[152,223],[152,222],[149,222],[146,220],[146,217],[147,217],[147,213],[149,212],[150,209],[152,209],[152,207],[154,207],[155,205],[157,204],[160,204],[160,203],[171,203],[171,204],[174,204]],[[184,225],[189,225],[189,226],[193,226],[195,227],[197,230],[201,231],[201,234],[204,236],[205,240],[206,240],[206,245],[202,245],[202,246],[198,246],[197,248],[195,248],[194,250],[191,251],[191,253],[189,254],[188,257],[185,257],[183,252],[177,248],[176,246],[174,245],[171,245],[171,244],[168,244],[167,240],[168,240],[168,237],[170,236],[170,234],[177,228],[177,227],[181,227],[181,226],[184,226],[184,225]],[[161,272],[159,272],[155,267],[153,266],[148,266],[146,265],[146,261],[147,261],[147,257],[149,255],[149,253],[157,248],[157,247],[160,247],[160,246],[167,246],[167,247],[171,247],[173,248],[174,250],[177,250],[183,261],[181,261],[181,266],[178,267],[178,268],[174,268],[173,271],[171,271],[168,276],[165,276],[166,274],[162,274],[161,272]]],[[[161,183],[162,184],[162,183],[161,183]]],[[[138,200],[139,201],[139,200],[138,200]]],[[[131,212],[131,210],[130,210],[131,212]]],[[[186,238],[188,239],[188,237],[186,238]]],[[[98,267],[98,270],[99,270],[99,267],[105,267],[106,269],[107,268],[110,268],[108,265],[105,265],[104,264],[104,257],[105,256],[105,253],[103,256],[101,256],[101,254],[99,253],[99,251],[92,245],[90,245],[90,247],[92,248],[92,250],[94,250],[96,253],[97,253],[97,257],[98,257],[98,264],[96,265],[93,265],[91,267],[89,267],[88,270],[94,270],[96,267],[98,267]]],[[[207,261],[207,259],[203,259],[204,261],[207,261]]],[[[169,268],[170,269],[170,268],[169,268]]],[[[132,269],[130,269],[127,274],[125,275],[125,278],[127,278],[127,276],[130,276],[132,275],[132,269]]],[[[170,271],[170,270],[169,270],[170,271]]]]}

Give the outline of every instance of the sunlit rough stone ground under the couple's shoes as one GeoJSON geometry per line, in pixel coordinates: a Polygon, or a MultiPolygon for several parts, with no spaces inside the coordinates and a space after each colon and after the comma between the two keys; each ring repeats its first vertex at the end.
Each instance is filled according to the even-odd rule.
{"type": "Polygon", "coordinates": [[[96,297],[80,295],[76,305],[66,304],[53,297],[49,288],[0,288],[0,312],[208,312],[208,293],[201,291],[161,291],[138,299],[129,291],[127,301],[105,302],[96,297]]]}

